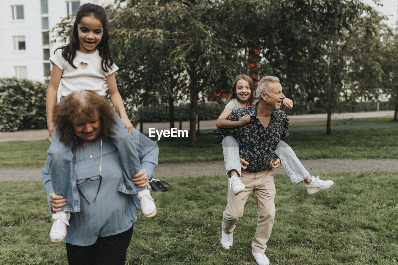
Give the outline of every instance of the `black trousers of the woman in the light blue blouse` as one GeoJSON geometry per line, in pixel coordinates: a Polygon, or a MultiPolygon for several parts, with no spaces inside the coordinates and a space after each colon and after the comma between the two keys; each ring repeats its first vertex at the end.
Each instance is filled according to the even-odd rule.
{"type": "Polygon", "coordinates": [[[120,234],[99,237],[97,242],[90,246],[66,243],[69,265],[124,265],[127,247],[133,235],[133,226],[120,234]]]}

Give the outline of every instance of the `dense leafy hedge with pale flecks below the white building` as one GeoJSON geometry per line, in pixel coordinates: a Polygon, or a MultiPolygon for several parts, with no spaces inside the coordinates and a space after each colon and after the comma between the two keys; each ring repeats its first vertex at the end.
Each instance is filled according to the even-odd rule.
{"type": "Polygon", "coordinates": [[[45,128],[46,91],[39,82],[0,78],[0,131],[45,128]]]}

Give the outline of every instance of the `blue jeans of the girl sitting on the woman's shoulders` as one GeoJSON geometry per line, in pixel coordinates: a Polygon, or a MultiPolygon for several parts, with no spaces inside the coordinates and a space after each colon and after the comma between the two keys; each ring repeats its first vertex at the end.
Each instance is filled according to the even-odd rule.
{"type": "MultiPolygon", "coordinates": [[[[133,143],[133,136],[128,133],[121,119],[117,118],[110,138],[119,152],[119,160],[123,169],[123,179],[120,181],[118,191],[134,194],[146,189],[135,185],[133,176],[140,169],[140,160],[133,143]]],[[[47,151],[51,183],[56,195],[66,199],[62,207],[64,212],[80,212],[80,196],[76,187],[76,172],[74,171],[74,154],[72,146],[66,146],[59,139],[59,132],[54,131],[53,141],[47,151]]]]}

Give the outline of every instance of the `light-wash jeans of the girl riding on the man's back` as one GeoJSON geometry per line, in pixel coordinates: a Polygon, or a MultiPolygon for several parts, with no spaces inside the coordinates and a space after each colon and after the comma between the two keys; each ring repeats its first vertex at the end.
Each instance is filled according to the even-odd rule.
{"type": "MultiPolygon", "coordinates": [[[[225,171],[228,177],[231,177],[229,171],[238,171],[240,176],[240,160],[239,160],[239,145],[234,136],[228,135],[222,140],[222,152],[224,153],[225,171]]],[[[289,144],[280,140],[275,154],[281,159],[281,164],[286,172],[286,175],[294,185],[310,177],[310,173],[304,168],[300,160],[297,158],[295,152],[289,144]]]]}

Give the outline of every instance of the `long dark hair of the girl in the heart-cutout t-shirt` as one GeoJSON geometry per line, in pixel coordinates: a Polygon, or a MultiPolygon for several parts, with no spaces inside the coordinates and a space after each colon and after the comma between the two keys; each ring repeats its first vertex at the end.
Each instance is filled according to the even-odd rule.
{"type": "MultiPolygon", "coordinates": [[[[103,27],[103,36],[101,42],[98,44],[96,49],[100,53],[101,56],[101,68],[103,71],[108,72],[108,68],[111,68],[115,59],[112,56],[111,49],[109,48],[109,31],[108,31],[108,18],[105,9],[102,6],[98,6],[95,4],[83,4],[79,7],[76,12],[76,19],[73,24],[73,29],[70,34],[69,44],[61,46],[58,49],[62,49],[62,57],[67,60],[73,68],[77,68],[73,64],[73,59],[76,56],[76,51],[80,49],[79,45],[79,37],[78,37],[78,28],[77,25],[80,23],[82,18],[93,15],[96,19],[100,20],[103,27]]],[[[54,52],[55,53],[55,52],[54,52]]]]}

